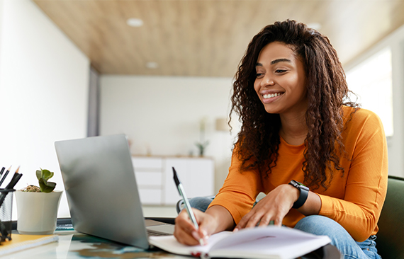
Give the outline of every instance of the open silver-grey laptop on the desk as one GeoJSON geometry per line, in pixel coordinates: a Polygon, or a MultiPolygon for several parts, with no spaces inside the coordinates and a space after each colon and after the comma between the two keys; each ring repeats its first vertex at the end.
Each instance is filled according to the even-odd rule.
{"type": "Polygon", "coordinates": [[[172,224],[144,219],[124,134],[55,142],[55,149],[76,231],[144,249],[147,230],[174,233],[172,224]]]}

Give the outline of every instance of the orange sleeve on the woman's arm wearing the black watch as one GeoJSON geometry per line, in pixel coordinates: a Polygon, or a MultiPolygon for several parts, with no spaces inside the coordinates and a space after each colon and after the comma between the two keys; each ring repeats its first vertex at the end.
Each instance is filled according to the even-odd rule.
{"type": "MultiPolygon", "coordinates": [[[[344,132],[349,168],[344,196],[320,195],[320,215],[340,223],[356,241],[376,234],[378,217],[386,197],[388,158],[380,119],[366,110],[357,111],[344,132]]],[[[335,183],[332,183],[335,184],[335,183]]]]}

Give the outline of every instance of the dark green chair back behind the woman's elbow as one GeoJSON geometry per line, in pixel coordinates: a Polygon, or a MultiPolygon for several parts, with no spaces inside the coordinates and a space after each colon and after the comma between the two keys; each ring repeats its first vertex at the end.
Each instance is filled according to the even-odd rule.
{"type": "Polygon", "coordinates": [[[404,258],[404,178],[388,176],[376,248],[383,259],[404,258]]]}

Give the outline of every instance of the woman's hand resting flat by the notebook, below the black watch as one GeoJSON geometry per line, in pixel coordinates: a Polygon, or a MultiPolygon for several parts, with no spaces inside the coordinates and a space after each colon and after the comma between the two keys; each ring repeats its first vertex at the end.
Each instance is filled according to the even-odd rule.
{"type": "Polygon", "coordinates": [[[299,190],[292,185],[279,185],[260,200],[250,212],[245,214],[235,227],[234,231],[257,226],[268,226],[274,221],[276,226],[281,226],[282,220],[289,212],[293,203],[298,200],[299,190]]]}

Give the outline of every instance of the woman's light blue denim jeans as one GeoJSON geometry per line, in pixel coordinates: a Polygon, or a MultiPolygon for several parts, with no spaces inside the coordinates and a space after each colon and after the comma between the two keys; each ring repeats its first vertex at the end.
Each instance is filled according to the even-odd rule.
{"type": "MultiPolygon", "coordinates": [[[[195,197],[189,200],[191,207],[205,212],[212,202],[211,197],[195,197]]],[[[354,241],[351,235],[336,221],[318,215],[304,217],[295,229],[315,235],[329,236],[331,244],[338,248],[344,258],[381,259],[376,249],[376,236],[370,236],[363,242],[354,241]]]]}

